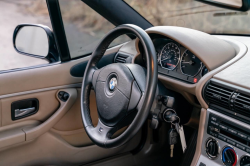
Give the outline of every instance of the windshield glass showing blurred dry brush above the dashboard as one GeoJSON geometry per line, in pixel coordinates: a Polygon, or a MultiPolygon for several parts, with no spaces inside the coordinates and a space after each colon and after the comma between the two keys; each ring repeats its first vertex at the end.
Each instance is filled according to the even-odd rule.
{"type": "Polygon", "coordinates": [[[180,26],[210,34],[250,34],[248,12],[194,0],[125,0],[154,26],[180,26]]]}

